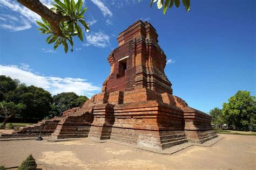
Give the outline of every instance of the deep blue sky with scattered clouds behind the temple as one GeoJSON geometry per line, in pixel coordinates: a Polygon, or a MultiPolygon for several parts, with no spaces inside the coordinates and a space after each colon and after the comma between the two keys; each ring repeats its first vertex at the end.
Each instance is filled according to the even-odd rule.
{"type": "MultiPolygon", "coordinates": [[[[50,5],[50,0],[41,0],[50,5]]],[[[0,74],[49,90],[100,93],[110,73],[106,58],[116,38],[137,19],[157,30],[169,63],[165,74],[173,94],[204,112],[222,107],[238,90],[255,95],[255,1],[191,0],[163,15],[156,4],[137,0],[86,0],[90,32],[75,50],[53,51],[36,30],[39,17],[16,1],[0,0],[0,74]]]]}

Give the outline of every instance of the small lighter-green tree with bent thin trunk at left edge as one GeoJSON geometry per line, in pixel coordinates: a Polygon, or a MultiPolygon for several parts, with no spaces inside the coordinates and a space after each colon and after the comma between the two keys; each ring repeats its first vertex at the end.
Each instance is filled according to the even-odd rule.
{"type": "Polygon", "coordinates": [[[15,104],[14,102],[0,102],[0,114],[5,117],[2,127],[5,127],[6,122],[15,114],[17,114],[17,112],[20,112],[23,109],[25,109],[25,107],[26,106],[22,103],[15,104]]]}

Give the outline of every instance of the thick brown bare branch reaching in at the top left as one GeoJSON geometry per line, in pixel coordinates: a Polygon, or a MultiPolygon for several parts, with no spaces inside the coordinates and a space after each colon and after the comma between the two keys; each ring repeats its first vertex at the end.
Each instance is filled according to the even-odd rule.
{"type": "Polygon", "coordinates": [[[60,21],[67,21],[71,18],[69,16],[63,16],[60,13],[55,13],[48,9],[44,4],[42,4],[39,0],[17,0],[26,8],[30,9],[33,12],[36,12],[39,16],[44,18],[50,23],[53,32],[56,36],[62,36],[62,31],[59,28],[60,21]]]}

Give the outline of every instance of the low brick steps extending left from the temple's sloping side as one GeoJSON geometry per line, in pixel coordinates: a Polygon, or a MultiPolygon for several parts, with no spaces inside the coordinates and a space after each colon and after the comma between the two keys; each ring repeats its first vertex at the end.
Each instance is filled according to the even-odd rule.
{"type": "Polygon", "coordinates": [[[12,134],[1,134],[0,139],[5,138],[34,138],[38,137],[41,129],[41,136],[50,136],[54,132],[59,120],[43,120],[37,124],[26,125],[15,130],[12,134]],[[41,126],[41,128],[40,128],[41,126]]]}

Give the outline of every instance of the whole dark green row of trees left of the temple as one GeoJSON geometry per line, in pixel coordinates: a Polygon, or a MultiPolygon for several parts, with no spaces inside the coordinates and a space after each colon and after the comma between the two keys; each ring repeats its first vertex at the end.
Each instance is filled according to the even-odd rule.
{"type": "Polygon", "coordinates": [[[49,91],[36,86],[26,86],[17,79],[0,75],[0,115],[5,117],[3,126],[11,117],[43,119],[59,116],[63,111],[79,107],[88,100],[86,96],[60,93],[52,96],[49,91]]]}

